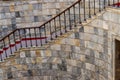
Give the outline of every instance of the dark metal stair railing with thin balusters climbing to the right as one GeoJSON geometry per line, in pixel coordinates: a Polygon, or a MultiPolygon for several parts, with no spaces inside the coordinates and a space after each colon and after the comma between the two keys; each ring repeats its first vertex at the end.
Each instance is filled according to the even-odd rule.
{"type": "Polygon", "coordinates": [[[20,48],[43,46],[119,0],[78,0],[39,27],[19,28],[0,40],[3,61],[20,48]]]}

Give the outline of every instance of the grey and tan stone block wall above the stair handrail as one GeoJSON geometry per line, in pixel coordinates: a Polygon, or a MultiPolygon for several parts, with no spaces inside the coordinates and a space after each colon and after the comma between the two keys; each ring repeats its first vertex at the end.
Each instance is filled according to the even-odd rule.
{"type": "Polygon", "coordinates": [[[40,26],[76,0],[0,1],[0,37],[19,27],[40,26]]]}

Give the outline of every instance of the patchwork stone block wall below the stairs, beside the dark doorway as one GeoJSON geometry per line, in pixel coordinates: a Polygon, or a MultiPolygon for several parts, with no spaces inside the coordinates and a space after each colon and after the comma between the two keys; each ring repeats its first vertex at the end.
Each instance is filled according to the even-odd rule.
{"type": "Polygon", "coordinates": [[[45,49],[22,49],[0,64],[1,80],[114,80],[118,9],[60,36],[45,49]]]}

